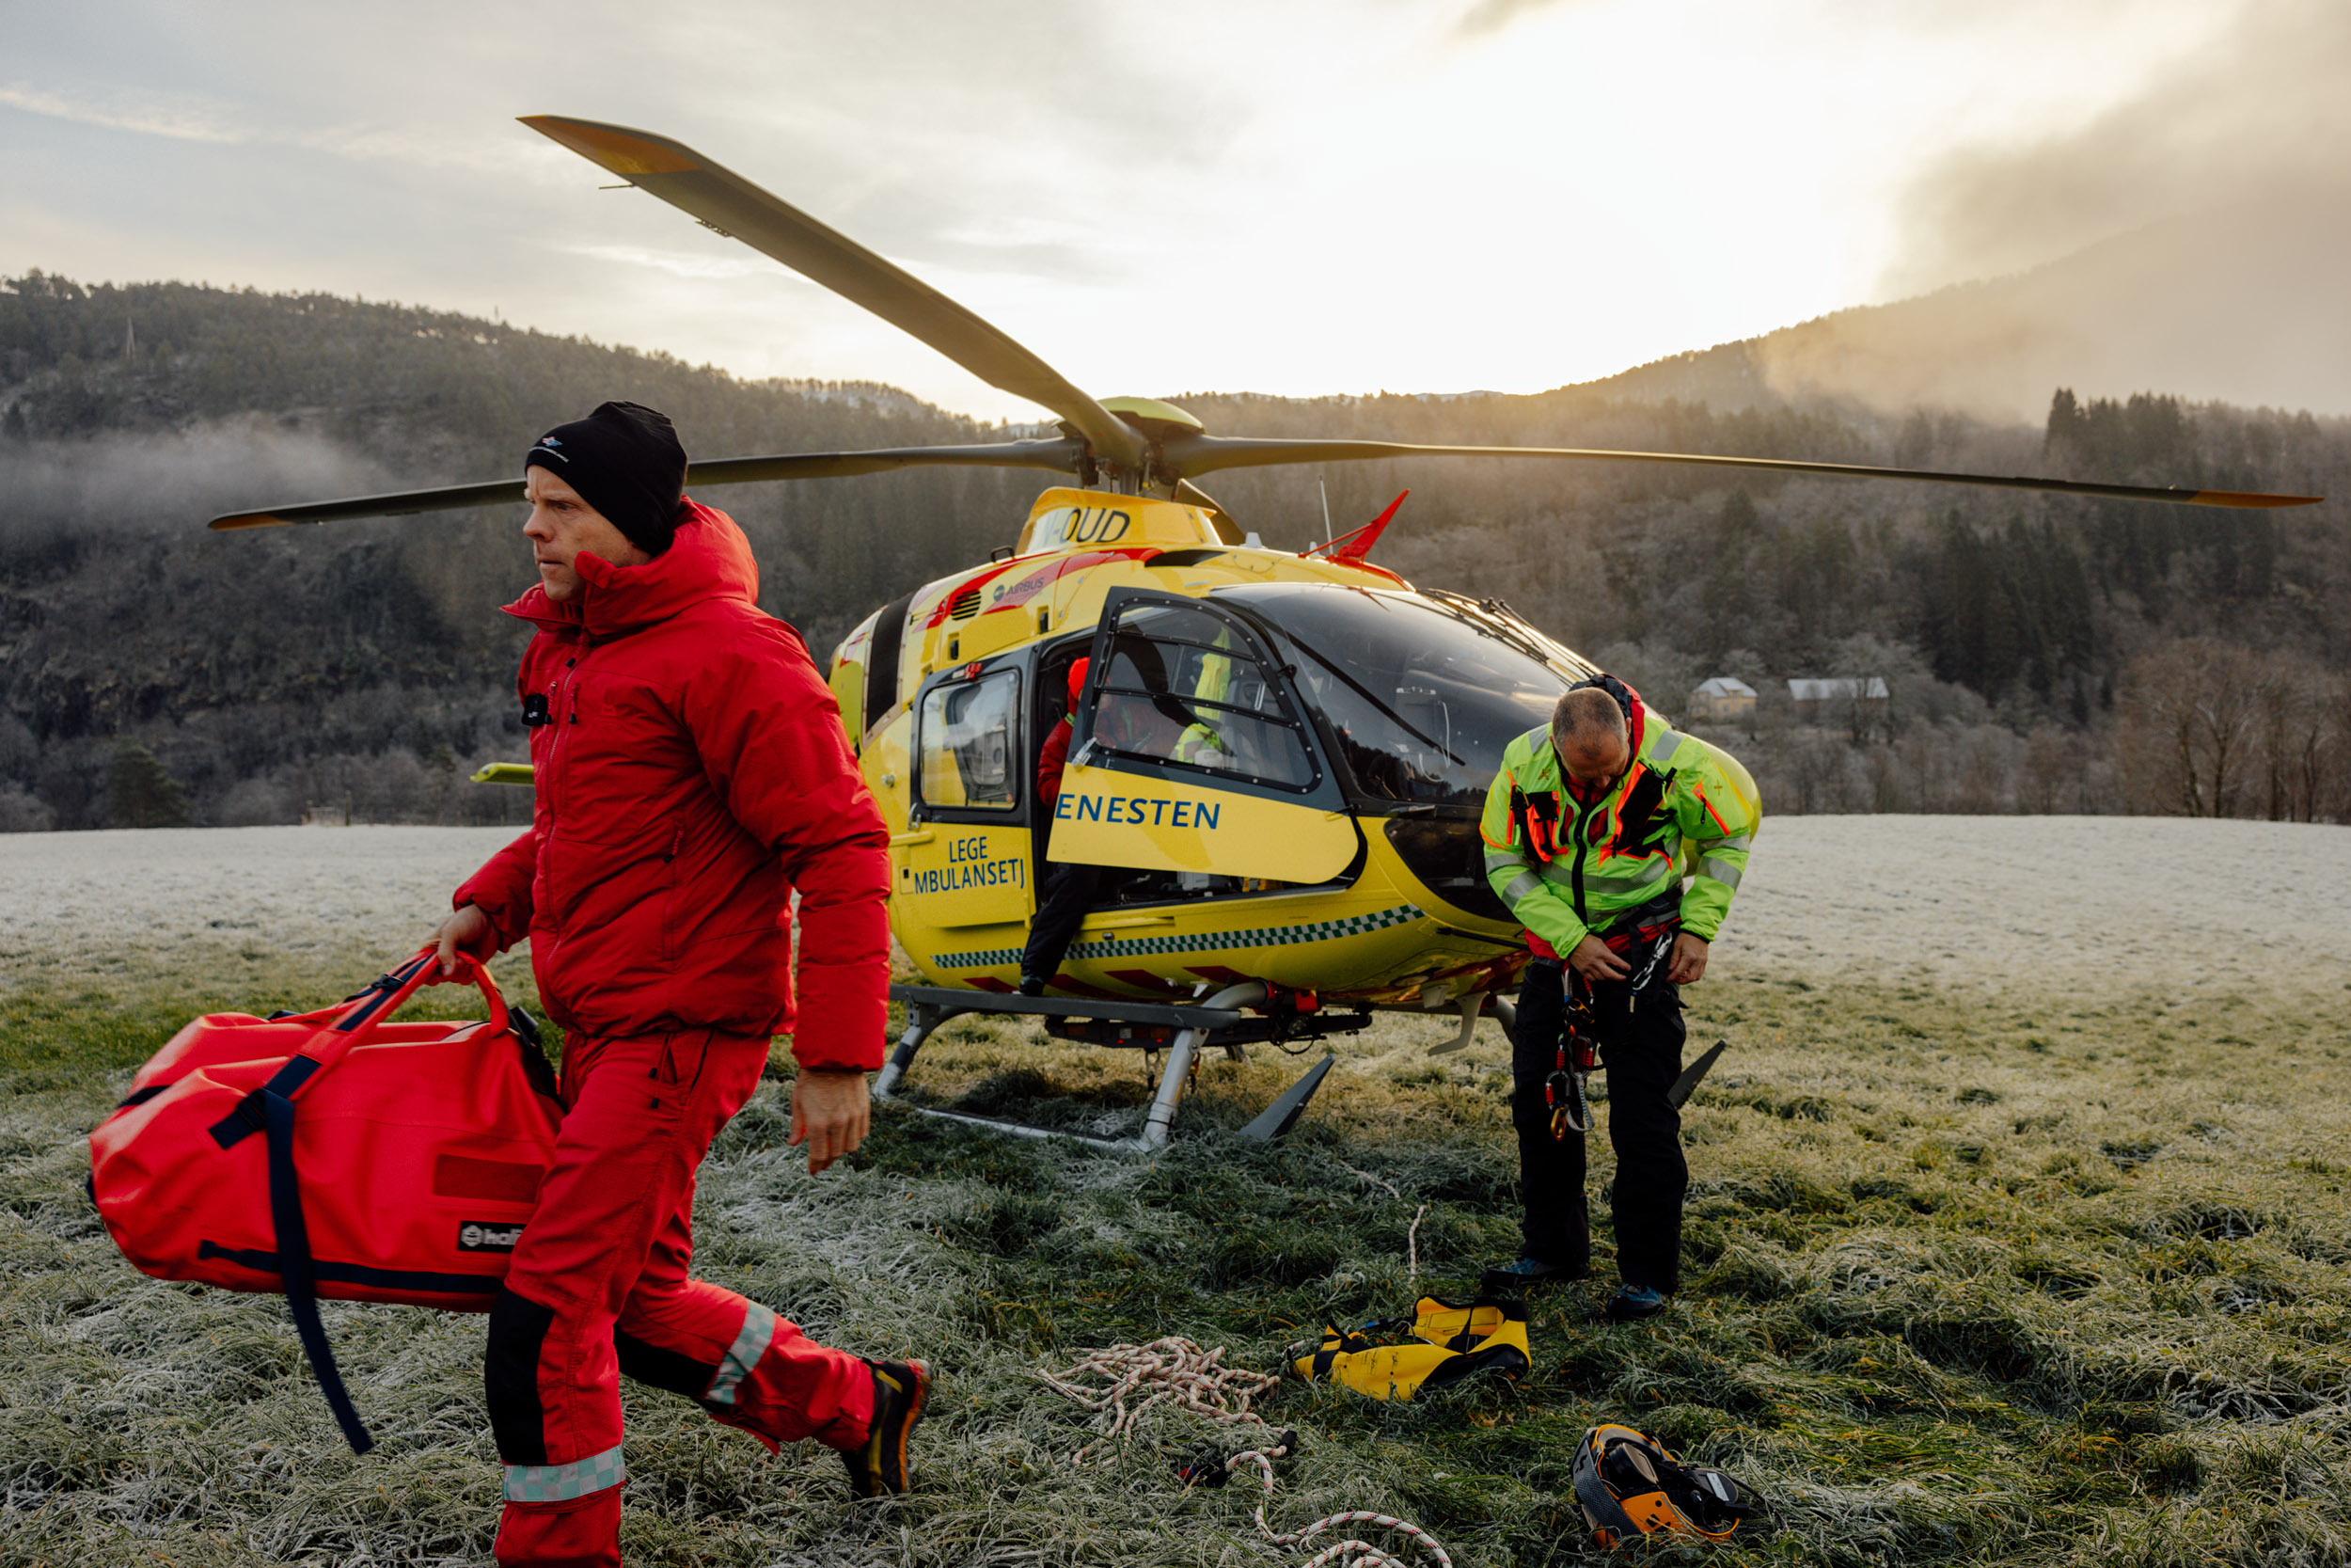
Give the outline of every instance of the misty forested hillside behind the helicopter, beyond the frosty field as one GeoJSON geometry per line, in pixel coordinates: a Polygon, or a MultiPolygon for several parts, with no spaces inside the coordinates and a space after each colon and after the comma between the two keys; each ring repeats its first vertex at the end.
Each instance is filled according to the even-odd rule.
{"type": "MultiPolygon", "coordinates": [[[[1704,376],[1650,367],[1535,397],[1176,400],[1227,435],[2337,496],[2212,512],[1491,461],[1208,484],[1293,548],[1321,531],[1317,480],[1340,529],[1411,487],[1380,548],[1408,578],[1509,599],[1669,712],[1707,675],[1747,677],[1766,703],[1733,743],[1782,811],[2351,816],[2351,421],[2071,393],[2041,428],[1770,395],[1714,414],[1686,393],[1719,360],[1690,362],[1704,376]],[[1895,696],[1799,722],[1770,684],[1791,675],[1883,675],[1895,696]]],[[[0,284],[0,827],[515,811],[513,792],[461,773],[522,745],[508,712],[522,630],[496,614],[531,581],[517,517],[200,524],[230,505],[498,477],[531,435],[604,397],[670,411],[696,456],[1002,435],[882,386],[743,383],[404,306],[0,284]]],[[[823,649],[875,604],[1009,543],[1039,482],[929,470],[710,501],[752,536],[764,604],[823,649]]]]}

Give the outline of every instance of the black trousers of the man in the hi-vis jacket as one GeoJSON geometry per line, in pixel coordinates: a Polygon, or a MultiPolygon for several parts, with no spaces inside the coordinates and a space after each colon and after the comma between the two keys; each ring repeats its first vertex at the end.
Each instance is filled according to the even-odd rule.
{"type": "MultiPolygon", "coordinates": [[[[1559,1065],[1568,1023],[1566,964],[1535,959],[1519,987],[1512,1041],[1509,1121],[1519,1131],[1519,1199],[1526,1255],[1582,1274],[1592,1262],[1592,1220],[1585,1211],[1585,1135],[1552,1138],[1542,1079],[1559,1065]]],[[[1610,1211],[1617,1234],[1617,1274],[1629,1286],[1674,1291],[1681,1284],[1681,1197],[1690,1166],[1681,1157],[1681,1112],[1665,1098],[1681,1077],[1681,987],[1653,978],[1639,997],[1601,985],[1592,1013],[1608,1070],[1608,1143],[1617,1173],[1610,1211]]]]}

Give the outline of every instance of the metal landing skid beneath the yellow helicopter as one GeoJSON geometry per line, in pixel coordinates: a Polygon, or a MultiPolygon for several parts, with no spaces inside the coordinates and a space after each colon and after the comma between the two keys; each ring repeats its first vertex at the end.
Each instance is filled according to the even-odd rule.
{"type": "MultiPolygon", "coordinates": [[[[1183,1098],[1185,1081],[1192,1077],[1192,1063],[1204,1046],[1225,1046],[1227,1053],[1239,1060],[1239,1048],[1246,1041],[1319,1039],[1324,1034],[1347,1034],[1371,1023],[1368,1013],[1310,1013],[1298,1020],[1305,1027],[1291,1025],[1284,1030],[1270,1018],[1251,1018],[1241,1009],[1262,1004],[1270,997],[1270,987],[1262,980],[1227,985],[1199,1006],[1178,1006],[1171,1001],[1016,997],[1002,992],[947,990],[940,985],[891,985],[889,994],[891,1001],[905,1004],[905,1034],[898,1037],[898,1048],[875,1079],[877,1100],[900,1103],[898,1086],[905,1081],[907,1067],[915,1065],[915,1053],[922,1051],[922,1044],[943,1023],[962,1018],[964,1013],[1032,1016],[1044,1018],[1046,1032],[1060,1039],[1100,1046],[1131,1046],[1140,1051],[1164,1048],[1168,1053],[1166,1070],[1159,1074],[1159,1088],[1152,1093],[1150,1112],[1143,1117],[1143,1131],[1131,1138],[1096,1138],[1091,1133],[1072,1133],[1056,1126],[1032,1126],[1006,1117],[973,1117],[969,1112],[931,1110],[926,1105],[907,1107],[919,1117],[962,1121],[992,1133],[1011,1133],[1016,1138],[1072,1138],[1077,1143],[1091,1143],[1098,1150],[1114,1150],[1121,1154],[1150,1154],[1152,1150],[1166,1147],[1168,1133],[1176,1126],[1176,1103],[1183,1098]]],[[[1324,1056],[1324,1060],[1281,1091],[1274,1103],[1267,1105],[1265,1112],[1237,1135],[1253,1143],[1272,1143],[1274,1138],[1288,1133],[1305,1112],[1307,1100],[1312,1100],[1314,1091],[1321,1088],[1324,1074],[1331,1072],[1333,1060],[1335,1058],[1324,1056]]]]}

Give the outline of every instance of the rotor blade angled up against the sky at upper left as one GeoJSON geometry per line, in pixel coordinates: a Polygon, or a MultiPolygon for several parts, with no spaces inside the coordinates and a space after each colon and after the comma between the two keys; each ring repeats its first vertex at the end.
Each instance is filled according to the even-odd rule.
{"type": "Polygon", "coordinates": [[[1044,404],[1084,435],[1105,461],[1128,470],[1143,463],[1143,440],[1133,428],[1051,364],[931,284],[776,200],[741,174],[710,162],[686,143],[625,125],[569,115],[524,115],[522,122],[639,190],[701,219],[705,228],[741,240],[842,299],[865,306],[987,386],[1044,404]]]}

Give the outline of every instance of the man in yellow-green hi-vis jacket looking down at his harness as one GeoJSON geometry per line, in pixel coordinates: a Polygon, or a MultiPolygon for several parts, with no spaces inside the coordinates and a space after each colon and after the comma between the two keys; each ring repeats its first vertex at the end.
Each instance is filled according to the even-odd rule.
{"type": "Polygon", "coordinates": [[[1592,1260],[1585,1138],[1561,1114],[1570,999],[1589,1001],[1608,1070],[1617,1276],[1608,1316],[1665,1309],[1681,1284],[1681,987],[1747,870],[1763,809],[1728,752],[1669,729],[1601,675],[1502,752],[1486,790],[1486,882],[1535,952],[1519,987],[1512,1126],[1526,1204],[1523,1255],[1488,1279],[1580,1279],[1592,1260]],[[1547,1093],[1549,1088],[1549,1093],[1547,1093]]]}

